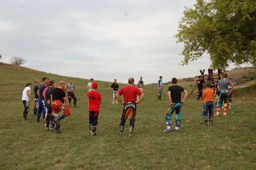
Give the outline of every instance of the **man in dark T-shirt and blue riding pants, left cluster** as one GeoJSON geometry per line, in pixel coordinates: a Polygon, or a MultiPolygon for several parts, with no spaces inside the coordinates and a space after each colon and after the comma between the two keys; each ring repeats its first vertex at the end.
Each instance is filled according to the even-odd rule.
{"type": "Polygon", "coordinates": [[[37,90],[38,99],[39,99],[39,106],[38,106],[38,112],[37,112],[37,122],[40,122],[41,114],[43,113],[43,120],[45,123],[45,100],[43,96],[43,92],[45,88],[47,87],[46,82],[48,81],[48,78],[44,77],[42,79],[42,84],[40,85],[39,89],[37,90]]]}

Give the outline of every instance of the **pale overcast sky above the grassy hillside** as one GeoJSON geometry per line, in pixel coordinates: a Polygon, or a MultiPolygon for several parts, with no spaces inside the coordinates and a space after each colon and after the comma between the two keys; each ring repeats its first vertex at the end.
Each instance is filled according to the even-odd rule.
{"type": "MultiPolygon", "coordinates": [[[[196,0],[2,0],[0,62],[47,73],[127,83],[195,77],[208,55],[181,66],[174,35],[196,0]]],[[[235,66],[233,66],[235,67],[235,66]]],[[[39,80],[41,78],[38,78],[39,80]]],[[[51,79],[51,78],[50,78],[51,79]]],[[[74,82],[75,83],[75,82],[74,82]]]]}

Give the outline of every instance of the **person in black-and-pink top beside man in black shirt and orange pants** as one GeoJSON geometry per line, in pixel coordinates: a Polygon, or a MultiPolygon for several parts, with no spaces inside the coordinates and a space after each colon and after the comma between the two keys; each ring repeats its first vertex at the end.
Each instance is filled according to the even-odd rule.
{"type": "Polygon", "coordinates": [[[46,107],[46,123],[45,123],[45,130],[46,131],[54,131],[54,116],[52,111],[52,100],[51,94],[54,89],[54,80],[48,81],[48,88],[45,90],[45,107],[46,107]]]}

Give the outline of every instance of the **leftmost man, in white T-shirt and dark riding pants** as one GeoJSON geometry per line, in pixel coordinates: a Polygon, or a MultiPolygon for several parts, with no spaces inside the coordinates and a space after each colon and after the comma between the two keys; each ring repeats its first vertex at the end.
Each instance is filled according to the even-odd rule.
{"type": "Polygon", "coordinates": [[[26,88],[22,91],[22,98],[21,101],[24,105],[24,112],[23,112],[23,121],[27,121],[27,116],[29,112],[29,103],[31,101],[31,96],[30,96],[30,89],[31,89],[31,83],[26,84],[26,88]]]}

